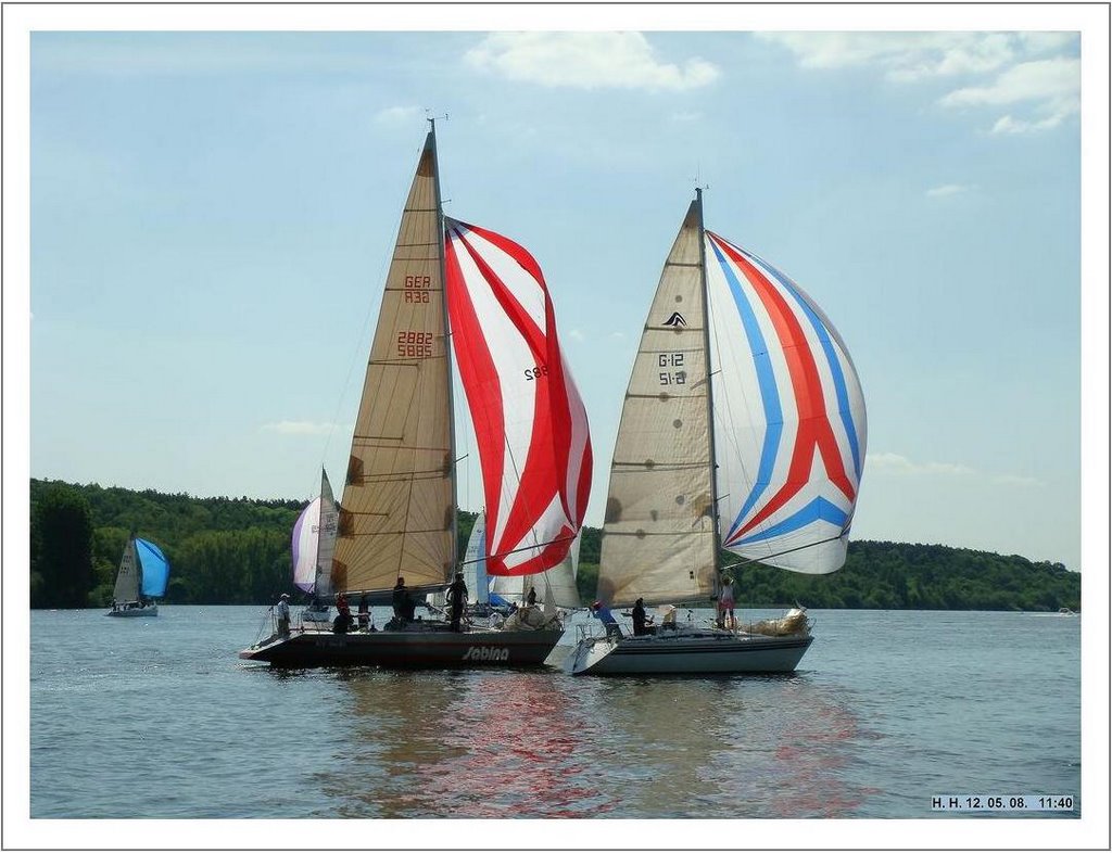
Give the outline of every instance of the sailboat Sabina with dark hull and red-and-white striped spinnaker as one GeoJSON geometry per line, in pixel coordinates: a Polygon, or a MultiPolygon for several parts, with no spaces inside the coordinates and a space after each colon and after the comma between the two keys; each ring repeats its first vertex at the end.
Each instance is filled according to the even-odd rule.
{"type": "MultiPolygon", "coordinates": [[[[506,237],[443,217],[433,123],[387,273],[328,569],[330,589],[353,603],[381,600],[400,579],[424,598],[459,571],[453,353],[483,463],[487,571],[545,571],[583,524],[586,412],[536,261],[506,237]]],[[[397,630],[294,631],[240,658],[284,666],[536,665],[562,634],[555,619],[520,629],[456,632],[420,618],[397,630]]]]}

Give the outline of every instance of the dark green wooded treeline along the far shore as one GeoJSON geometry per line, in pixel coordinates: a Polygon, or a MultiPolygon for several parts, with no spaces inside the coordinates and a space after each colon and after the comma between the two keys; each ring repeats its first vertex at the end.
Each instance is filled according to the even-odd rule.
{"type": "MultiPolygon", "coordinates": [[[[190,498],[31,480],[31,606],[106,606],[129,531],[170,561],[166,600],[264,604],[290,582],[290,534],[299,501],[190,498]]],[[[459,513],[459,551],[475,514],[459,513]]],[[[595,594],[600,531],[585,528],[579,591],[595,594]]],[[[723,552],[719,565],[737,563],[723,552]]],[[[841,571],[805,575],[751,563],[731,570],[738,604],[875,610],[1081,609],[1081,575],[1061,563],[945,545],[850,543],[841,571]]]]}

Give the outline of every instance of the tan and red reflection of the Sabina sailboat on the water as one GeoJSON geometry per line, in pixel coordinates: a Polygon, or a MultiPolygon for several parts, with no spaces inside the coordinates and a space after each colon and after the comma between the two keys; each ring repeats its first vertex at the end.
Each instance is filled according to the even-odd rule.
{"type": "Polygon", "coordinates": [[[582,816],[617,801],[589,777],[578,713],[545,672],[337,671],[350,741],[321,784],[337,816],[582,816]]]}

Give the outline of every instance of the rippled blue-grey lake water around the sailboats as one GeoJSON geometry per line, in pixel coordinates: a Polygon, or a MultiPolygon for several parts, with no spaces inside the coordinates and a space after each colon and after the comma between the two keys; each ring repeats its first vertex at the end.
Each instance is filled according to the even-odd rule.
{"type": "Polygon", "coordinates": [[[997,817],[1081,810],[1080,618],[811,611],[794,675],[600,679],[285,672],[236,656],[265,608],[102,613],[31,614],[31,817],[952,819],[932,797],[969,793],[1074,799],[997,817]]]}

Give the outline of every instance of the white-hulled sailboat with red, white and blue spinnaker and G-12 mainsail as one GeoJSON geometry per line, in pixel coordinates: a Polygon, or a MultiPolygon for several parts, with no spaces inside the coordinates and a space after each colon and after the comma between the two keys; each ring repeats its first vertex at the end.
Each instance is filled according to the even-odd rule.
{"type": "MultiPolygon", "coordinates": [[[[598,599],[711,606],[718,543],[742,562],[845,562],[865,404],[842,338],[787,275],[703,227],[696,191],[664,264],[610,465],[598,599]]],[[[728,571],[728,566],[723,566],[728,571]]],[[[573,674],[791,672],[805,614],[583,636],[573,674]]]]}

